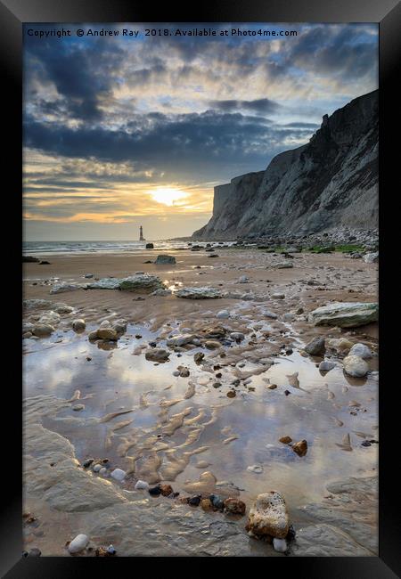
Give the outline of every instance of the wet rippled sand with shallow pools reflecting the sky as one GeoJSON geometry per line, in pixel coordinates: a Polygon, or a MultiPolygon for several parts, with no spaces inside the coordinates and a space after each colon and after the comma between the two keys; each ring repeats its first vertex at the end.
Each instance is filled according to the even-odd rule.
{"type": "MultiPolygon", "coordinates": [[[[23,340],[25,423],[32,441],[39,425],[44,428],[40,431],[43,445],[33,445],[35,450],[27,436],[26,464],[34,464],[35,468],[29,467],[24,508],[34,512],[40,521],[38,526],[26,526],[27,548],[37,546],[44,555],[66,555],[66,541],[75,534],[90,533],[96,544],[113,542],[120,555],[148,552],[146,526],[151,529],[157,521],[166,540],[159,546],[155,544],[154,550],[159,551],[151,553],[154,555],[176,545],[180,553],[184,549],[185,554],[192,555],[224,555],[233,550],[233,554],[274,556],[278,554],[271,545],[260,544],[244,534],[246,518],[229,521],[227,526],[225,515],[203,513],[201,508],[194,510],[164,497],[150,499],[147,493],[134,490],[135,481],[143,478],[149,483],[166,482],[182,496],[212,491],[223,497],[239,496],[246,502],[247,512],[258,493],[278,490],[285,496],[292,523],[300,529],[322,522],[316,514],[309,516],[303,507],[320,504],[328,494],[327,485],[339,478],[362,479],[377,474],[378,444],[361,444],[379,437],[377,357],[369,361],[371,373],[365,379],[352,379],[342,370],[340,352],[330,352],[336,367],[328,373],[316,367],[322,358],[300,354],[305,343],[316,335],[363,342],[373,353],[377,352],[377,324],[340,330],[316,328],[306,319],[309,311],[331,300],[377,301],[377,265],[339,254],[302,253],[294,254],[292,268],[276,269],[274,265],[283,257],[257,249],[218,248],[218,257],[213,258],[203,251],[176,250],[170,254],[176,257],[176,265],[144,264],[156,257],[157,252],[151,250],[129,256],[52,256],[48,257],[51,265],[24,264],[25,299],[45,299],[74,307],[72,314],[61,315],[50,338],[23,340]],[[137,301],[137,294],[118,290],[49,293],[55,281],[84,283],[86,273],[102,278],[125,277],[139,271],[158,274],[172,290],[211,286],[242,298],[189,300],[173,293],[163,297],[144,295],[144,300],[137,301]],[[250,281],[239,283],[242,275],[250,281]],[[271,298],[275,292],[282,292],[285,298],[271,298]],[[247,293],[248,298],[244,298],[247,293]],[[304,312],[295,314],[299,307],[304,312]],[[231,317],[217,320],[217,312],[223,309],[231,317]],[[277,314],[277,319],[267,318],[266,309],[277,314]],[[293,314],[290,319],[282,317],[289,313],[293,314]],[[84,333],[71,330],[76,318],[86,320],[84,333]],[[128,326],[116,344],[88,341],[88,332],[100,322],[119,318],[125,318],[128,326]],[[224,326],[227,332],[242,332],[244,340],[217,350],[176,349],[171,351],[167,363],[145,360],[143,350],[151,341],[166,347],[166,338],[177,331],[201,333],[217,325],[224,326]],[[205,354],[199,365],[193,362],[197,352],[205,354]],[[188,377],[173,375],[179,365],[188,368],[188,377]],[[233,386],[235,379],[238,386],[233,386]],[[220,387],[213,386],[217,381],[220,387]],[[277,387],[270,389],[272,384],[277,387]],[[227,396],[230,391],[235,391],[233,398],[227,396]],[[286,395],[286,391],[290,394],[286,395]],[[72,407],[78,403],[85,407],[75,412],[72,407]],[[60,435],[62,451],[46,449],[48,433],[60,435]],[[351,449],[344,444],[348,434],[351,449]],[[305,438],[307,455],[299,457],[290,446],[278,442],[281,436],[291,436],[294,442],[305,438]],[[63,441],[70,441],[72,446],[63,441]],[[76,505],[77,508],[74,493],[72,504],[61,501],[60,496],[67,493],[65,478],[54,475],[55,470],[42,472],[54,468],[43,464],[50,461],[51,454],[55,468],[59,462],[65,465],[71,461],[68,472],[74,473],[70,477],[74,493],[82,490],[90,477],[99,493],[107,489],[114,493],[112,497],[104,494],[100,504],[88,498],[86,507],[76,505]],[[113,468],[127,471],[126,481],[119,484],[110,477],[102,479],[72,466],[73,461],[82,464],[89,456],[109,458],[113,468]],[[261,472],[255,466],[261,467],[261,472]],[[84,478],[78,479],[75,469],[84,478]],[[37,491],[41,485],[50,498],[37,491]],[[135,540],[131,538],[129,544],[125,534],[131,534],[133,529],[127,521],[122,522],[123,515],[118,516],[119,509],[110,502],[128,503],[129,508],[138,510],[138,517],[143,517],[142,532],[139,530],[138,534],[136,530],[135,540]],[[102,532],[94,534],[96,513],[98,520],[102,513],[106,520],[104,510],[108,509],[115,511],[114,523],[121,518],[120,531],[111,533],[110,522],[110,526],[105,523],[102,532]],[[175,542],[179,536],[177,528],[184,525],[188,510],[198,533],[188,534],[185,545],[180,546],[175,542]],[[225,531],[215,536],[210,545],[202,546],[201,528],[216,528],[213,525],[217,522],[222,528],[227,526],[225,531]],[[230,534],[233,528],[235,533],[230,534]]],[[[51,309],[51,304],[27,309],[24,319],[35,322],[51,309]]],[[[349,516],[351,511],[348,508],[349,516]]],[[[318,512],[321,515],[323,510],[318,512]]],[[[333,526],[331,521],[330,525],[340,529],[340,537],[339,523],[333,526]]],[[[372,508],[364,525],[369,526],[374,539],[377,521],[372,508]]],[[[352,535],[357,535],[354,527],[352,533],[345,523],[341,532],[344,527],[349,531],[348,540],[364,549],[352,535]]],[[[375,553],[373,539],[369,552],[364,554],[375,553]]],[[[305,541],[302,544],[305,549],[305,541]]],[[[302,555],[296,551],[294,554],[302,555]]]]}

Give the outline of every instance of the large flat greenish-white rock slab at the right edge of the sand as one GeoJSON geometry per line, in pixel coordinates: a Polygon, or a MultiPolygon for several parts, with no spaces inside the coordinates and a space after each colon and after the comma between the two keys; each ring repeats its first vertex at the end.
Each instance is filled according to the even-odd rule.
{"type": "Polygon", "coordinates": [[[367,323],[377,322],[379,305],[377,303],[336,302],[315,309],[307,316],[308,322],[315,326],[329,325],[340,328],[356,328],[367,323]]]}

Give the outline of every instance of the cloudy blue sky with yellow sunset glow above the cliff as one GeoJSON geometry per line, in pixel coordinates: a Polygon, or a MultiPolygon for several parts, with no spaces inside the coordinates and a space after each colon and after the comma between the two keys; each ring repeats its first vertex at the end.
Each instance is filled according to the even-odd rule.
{"type": "Polygon", "coordinates": [[[377,87],[376,24],[26,24],[24,240],[191,235],[214,186],[266,169],[377,87]],[[217,36],[176,36],[195,28],[217,36]],[[113,36],[88,36],[102,29],[113,36]]]}

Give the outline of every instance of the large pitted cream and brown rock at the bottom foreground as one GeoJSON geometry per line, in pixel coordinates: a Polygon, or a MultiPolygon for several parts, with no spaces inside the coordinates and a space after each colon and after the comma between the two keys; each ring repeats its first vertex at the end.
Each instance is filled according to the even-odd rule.
{"type": "Polygon", "coordinates": [[[289,526],[287,506],[282,494],[276,491],[258,494],[246,526],[249,534],[285,539],[289,526]]]}

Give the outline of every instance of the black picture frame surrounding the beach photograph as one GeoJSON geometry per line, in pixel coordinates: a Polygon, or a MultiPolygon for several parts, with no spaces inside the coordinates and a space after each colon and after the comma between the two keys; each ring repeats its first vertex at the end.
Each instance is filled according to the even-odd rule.
{"type": "MultiPolygon", "coordinates": [[[[380,425],[381,445],[379,461],[380,477],[380,551],[377,558],[270,558],[265,572],[271,573],[271,567],[286,566],[285,572],[295,572],[298,578],[307,579],[322,577],[374,577],[387,579],[400,576],[400,516],[398,479],[393,472],[393,464],[397,464],[397,404],[394,404],[394,389],[397,386],[397,375],[392,376],[389,370],[390,338],[385,331],[385,324],[391,315],[391,302],[396,303],[394,283],[386,280],[386,267],[389,266],[386,255],[397,240],[397,227],[391,229],[387,218],[393,206],[393,183],[397,183],[399,175],[395,149],[400,133],[397,128],[397,67],[401,56],[401,6],[396,0],[381,0],[381,2],[364,0],[247,0],[247,2],[227,2],[215,0],[213,3],[202,3],[175,7],[168,3],[155,7],[151,3],[132,0],[2,0],[0,1],[0,58],[3,70],[3,142],[7,140],[6,159],[9,191],[12,192],[13,211],[15,211],[14,253],[7,249],[10,263],[20,263],[20,245],[22,238],[20,224],[21,210],[21,95],[22,95],[22,25],[26,22],[379,22],[380,23],[380,301],[381,301],[381,388],[380,388],[380,425]],[[392,179],[394,177],[394,181],[392,179]],[[389,207],[390,206],[390,207],[389,207]],[[389,213],[387,213],[389,210],[389,213]],[[386,215],[387,214],[387,215],[386,215]],[[382,258],[382,256],[384,258],[382,258]],[[391,288],[389,286],[392,286],[391,288]],[[392,296],[391,291],[394,292],[392,296]]],[[[399,148],[399,146],[398,146],[399,148]]],[[[398,161],[399,164],[399,161],[398,161]]],[[[399,187],[399,185],[398,185],[399,187]]],[[[399,228],[399,226],[398,226],[399,228]]],[[[398,242],[399,247],[399,242],[398,242]]],[[[389,258],[389,257],[388,257],[389,258]]],[[[15,265],[13,266],[15,267],[15,265]]],[[[11,267],[12,269],[12,267],[11,267]]],[[[18,283],[19,272],[16,272],[14,283],[18,283]]],[[[16,305],[14,312],[20,311],[20,295],[14,292],[16,305]]],[[[399,299],[399,298],[398,298],[399,299]]],[[[17,326],[15,317],[12,327],[17,326]]],[[[20,340],[19,331],[14,336],[20,340]]],[[[18,347],[15,348],[20,354],[18,347]]],[[[397,352],[393,352],[396,357],[397,352]]],[[[8,388],[8,405],[12,408],[12,440],[6,440],[7,453],[4,470],[5,488],[1,503],[1,545],[0,562],[2,576],[7,579],[29,577],[70,577],[87,574],[115,573],[115,567],[127,563],[125,558],[92,559],[86,558],[22,558],[22,528],[21,528],[21,388],[17,378],[20,362],[13,366],[9,380],[12,388],[8,388]],[[13,442],[13,444],[12,444],[13,442]],[[125,559],[125,561],[124,561],[125,559]],[[112,560],[113,563],[105,561],[112,560]],[[97,562],[95,562],[97,561],[97,562]],[[100,563],[102,561],[102,563],[100,563]],[[99,565],[102,567],[99,567],[99,565]],[[106,565],[106,567],[104,567],[106,565]]],[[[4,381],[4,387],[6,382],[4,381]]],[[[11,412],[10,412],[11,413],[11,412]]],[[[398,418],[399,420],[399,418],[398,418]]],[[[398,436],[399,438],[399,436],[398,436]]],[[[399,444],[398,444],[399,446],[399,444]]],[[[131,558],[129,558],[131,559],[131,558]]],[[[166,559],[153,558],[152,562],[164,565],[166,559]]],[[[176,559],[174,564],[176,565],[176,559]]],[[[247,565],[254,559],[247,561],[247,565]]],[[[182,561],[188,566],[188,561],[182,561]]],[[[208,559],[200,558],[201,567],[208,564],[208,559]]],[[[221,561],[220,561],[221,562],[221,561]]],[[[129,565],[132,565],[128,561],[129,565]]],[[[235,565],[237,562],[235,561],[235,565]]],[[[148,563],[146,563],[148,566],[148,563]]],[[[193,572],[193,566],[187,567],[193,572]]],[[[196,570],[198,570],[197,567],[196,570]]],[[[213,561],[216,567],[216,560],[213,561]]],[[[136,572],[136,565],[131,572],[136,572]]],[[[281,567],[282,569],[282,567],[281,567]]],[[[160,567],[162,570],[162,567],[160,567]]],[[[275,569],[274,569],[275,570],[275,569]]],[[[281,570],[282,572],[282,570],[281,570]]],[[[149,567],[146,571],[149,574],[149,567]]]]}

